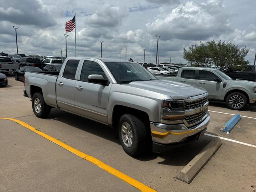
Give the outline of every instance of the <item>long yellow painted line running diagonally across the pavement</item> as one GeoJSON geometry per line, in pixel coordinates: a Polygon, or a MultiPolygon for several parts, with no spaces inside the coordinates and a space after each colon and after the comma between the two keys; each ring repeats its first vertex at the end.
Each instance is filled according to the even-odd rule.
{"type": "Polygon", "coordinates": [[[97,165],[98,167],[102,168],[103,170],[111,173],[112,175],[122,179],[123,181],[127,182],[128,184],[136,187],[137,189],[141,190],[142,192],[156,192],[156,190],[153,190],[152,188],[142,184],[141,182],[129,177],[128,175],[108,166],[107,164],[104,164],[102,161],[98,160],[97,158],[94,158],[88,154],[85,154],[53,137],[51,137],[50,135],[48,134],[45,134],[39,130],[37,130],[36,128],[30,126],[29,124],[23,122],[23,121],[20,121],[20,120],[17,120],[17,119],[14,119],[14,118],[0,118],[0,119],[6,119],[6,120],[11,120],[11,121],[14,121],[22,126],[24,126],[25,128],[28,128],[29,130],[35,132],[36,134],[50,140],[51,142],[61,146],[62,148],[76,154],[77,156],[89,161],[89,162],[92,162],[93,164],[97,165]]]}

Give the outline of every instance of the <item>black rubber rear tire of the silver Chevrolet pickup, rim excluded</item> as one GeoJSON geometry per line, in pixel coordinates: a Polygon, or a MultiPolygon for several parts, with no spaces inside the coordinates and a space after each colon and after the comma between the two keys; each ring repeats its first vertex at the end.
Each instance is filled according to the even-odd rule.
{"type": "Polygon", "coordinates": [[[34,114],[38,117],[38,118],[46,118],[50,112],[51,112],[51,108],[49,106],[46,105],[46,103],[44,102],[44,97],[42,96],[41,93],[35,93],[32,97],[32,109],[34,114]],[[35,100],[39,100],[40,101],[40,111],[37,110],[35,108],[35,100]]]}

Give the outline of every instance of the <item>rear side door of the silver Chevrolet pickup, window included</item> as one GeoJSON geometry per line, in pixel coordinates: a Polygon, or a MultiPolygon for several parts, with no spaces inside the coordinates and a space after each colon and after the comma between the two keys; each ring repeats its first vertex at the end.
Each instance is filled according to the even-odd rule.
{"type": "Polygon", "coordinates": [[[56,81],[56,100],[62,110],[74,112],[74,87],[79,59],[67,61],[63,73],[56,81]]]}

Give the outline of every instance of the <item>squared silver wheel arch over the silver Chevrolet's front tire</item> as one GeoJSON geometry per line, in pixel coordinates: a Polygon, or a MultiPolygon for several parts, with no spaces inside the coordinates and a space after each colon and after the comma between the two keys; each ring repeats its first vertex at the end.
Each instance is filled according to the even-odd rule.
{"type": "Polygon", "coordinates": [[[122,106],[122,105],[116,105],[116,106],[114,106],[114,110],[113,110],[113,113],[112,113],[112,127],[113,128],[118,128],[119,119],[124,114],[134,115],[138,119],[140,119],[142,122],[144,122],[144,124],[147,128],[150,127],[149,117],[148,117],[148,114],[146,112],[141,111],[141,110],[137,110],[137,109],[134,109],[134,108],[122,106]]]}

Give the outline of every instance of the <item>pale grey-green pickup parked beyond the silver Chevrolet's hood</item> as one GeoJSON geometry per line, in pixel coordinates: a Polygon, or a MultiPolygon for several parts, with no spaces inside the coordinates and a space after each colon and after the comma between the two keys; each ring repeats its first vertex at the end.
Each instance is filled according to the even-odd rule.
{"type": "Polygon", "coordinates": [[[228,108],[233,110],[242,110],[247,104],[256,105],[256,82],[233,80],[218,69],[184,67],[178,70],[175,77],[157,78],[204,88],[209,93],[209,100],[226,102],[228,108]]]}

